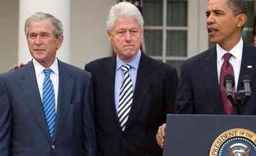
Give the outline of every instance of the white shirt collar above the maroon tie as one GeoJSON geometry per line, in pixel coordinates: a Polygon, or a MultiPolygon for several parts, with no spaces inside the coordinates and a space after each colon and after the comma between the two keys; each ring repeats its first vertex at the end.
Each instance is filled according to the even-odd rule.
{"type": "MultiPolygon", "coordinates": [[[[239,42],[235,45],[235,47],[233,47],[229,53],[232,54],[232,56],[234,56],[236,59],[238,59],[239,61],[242,61],[242,55],[243,55],[243,39],[240,38],[239,42]]],[[[216,51],[217,51],[217,59],[218,61],[221,61],[222,57],[224,54],[228,53],[227,51],[225,51],[225,49],[223,49],[220,45],[216,45],[216,51]]]]}

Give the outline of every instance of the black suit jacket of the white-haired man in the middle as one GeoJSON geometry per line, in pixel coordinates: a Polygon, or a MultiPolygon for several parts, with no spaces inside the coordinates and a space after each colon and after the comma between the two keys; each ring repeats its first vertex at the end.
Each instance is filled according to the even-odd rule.
{"type": "Polygon", "coordinates": [[[116,58],[103,58],[85,66],[92,72],[98,153],[104,156],[162,155],[155,141],[158,126],[174,112],[178,77],[175,68],[142,52],[132,109],[121,130],[114,103],[116,58]]]}

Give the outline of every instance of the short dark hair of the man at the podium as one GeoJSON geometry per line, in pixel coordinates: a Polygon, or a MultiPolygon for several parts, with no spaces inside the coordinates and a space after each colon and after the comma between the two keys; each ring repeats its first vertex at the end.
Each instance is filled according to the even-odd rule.
{"type": "Polygon", "coordinates": [[[247,4],[245,0],[226,0],[226,3],[235,15],[239,15],[240,13],[247,15],[247,4]]]}

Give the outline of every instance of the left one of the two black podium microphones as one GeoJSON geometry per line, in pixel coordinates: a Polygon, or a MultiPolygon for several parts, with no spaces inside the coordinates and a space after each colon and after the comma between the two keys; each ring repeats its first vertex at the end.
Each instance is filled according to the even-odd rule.
{"type": "Polygon", "coordinates": [[[235,86],[235,79],[233,75],[226,75],[224,77],[224,87],[226,88],[226,97],[230,100],[231,104],[235,104],[233,99],[233,88],[235,86]]]}

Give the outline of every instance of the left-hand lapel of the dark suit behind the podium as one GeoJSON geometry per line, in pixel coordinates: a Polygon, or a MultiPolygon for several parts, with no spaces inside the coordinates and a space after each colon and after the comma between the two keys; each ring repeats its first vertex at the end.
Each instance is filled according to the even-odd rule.
{"type": "Polygon", "coordinates": [[[207,55],[205,62],[201,63],[201,68],[204,70],[206,77],[204,79],[205,86],[209,93],[209,98],[212,99],[212,105],[214,106],[216,113],[225,114],[219,92],[216,47],[210,49],[207,55]]]}

